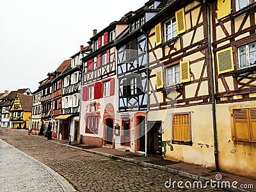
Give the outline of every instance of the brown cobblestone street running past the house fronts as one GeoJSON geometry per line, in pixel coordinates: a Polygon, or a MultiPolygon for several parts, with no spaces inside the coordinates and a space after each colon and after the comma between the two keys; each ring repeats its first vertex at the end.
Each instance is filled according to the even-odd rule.
{"type": "Polygon", "coordinates": [[[193,180],[41,140],[19,130],[2,128],[0,138],[63,175],[77,191],[223,191],[180,189],[177,184],[165,188],[170,179],[192,184],[193,180]]]}

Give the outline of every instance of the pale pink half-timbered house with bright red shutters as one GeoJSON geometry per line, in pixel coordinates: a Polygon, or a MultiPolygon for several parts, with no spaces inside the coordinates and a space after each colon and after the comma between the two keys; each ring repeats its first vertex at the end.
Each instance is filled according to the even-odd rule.
{"type": "Polygon", "coordinates": [[[116,48],[113,42],[127,28],[121,19],[112,22],[90,39],[92,52],[83,58],[81,129],[83,143],[115,147],[113,132],[116,104],[116,48]]]}

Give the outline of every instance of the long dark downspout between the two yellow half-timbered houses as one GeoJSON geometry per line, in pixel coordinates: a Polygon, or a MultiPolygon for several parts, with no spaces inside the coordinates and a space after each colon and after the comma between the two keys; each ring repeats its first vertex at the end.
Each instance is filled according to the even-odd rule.
{"type": "MultiPolygon", "coordinates": [[[[203,0],[205,3],[205,0],[203,0]]],[[[217,128],[216,128],[216,102],[215,102],[215,90],[214,90],[214,72],[213,72],[213,62],[212,62],[212,50],[211,50],[211,22],[210,14],[211,8],[209,4],[205,3],[207,9],[207,33],[208,33],[208,52],[210,61],[210,72],[211,72],[211,92],[212,92],[212,125],[213,125],[213,136],[214,136],[214,159],[215,159],[215,169],[219,171],[219,161],[218,161],[218,140],[217,140],[217,128]]]]}

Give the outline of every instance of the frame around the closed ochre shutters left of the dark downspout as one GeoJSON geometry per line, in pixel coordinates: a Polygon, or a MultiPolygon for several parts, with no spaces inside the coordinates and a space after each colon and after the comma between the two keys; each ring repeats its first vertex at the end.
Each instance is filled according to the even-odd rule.
{"type": "Polygon", "coordinates": [[[191,112],[186,113],[172,113],[172,143],[178,144],[178,145],[193,145],[193,139],[192,139],[192,120],[191,120],[191,112]],[[182,115],[188,115],[189,118],[189,141],[179,141],[177,138],[174,138],[174,126],[173,126],[173,118],[174,116],[182,116],[182,115]]]}

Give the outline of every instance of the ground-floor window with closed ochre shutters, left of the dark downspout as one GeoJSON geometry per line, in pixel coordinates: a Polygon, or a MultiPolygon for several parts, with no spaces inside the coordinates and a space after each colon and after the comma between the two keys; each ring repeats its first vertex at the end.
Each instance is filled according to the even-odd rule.
{"type": "Polygon", "coordinates": [[[176,113],[172,119],[172,143],[192,145],[191,113],[176,113]]]}

